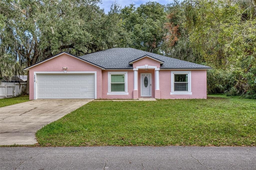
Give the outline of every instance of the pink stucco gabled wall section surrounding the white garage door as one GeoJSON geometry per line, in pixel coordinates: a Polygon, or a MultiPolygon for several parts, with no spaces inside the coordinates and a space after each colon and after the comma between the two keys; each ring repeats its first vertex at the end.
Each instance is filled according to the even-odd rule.
{"type": "MultiPolygon", "coordinates": [[[[29,69],[29,99],[34,100],[34,71],[97,71],[97,84],[102,84],[101,68],[67,54],[62,54],[29,69]]],[[[97,86],[97,98],[101,98],[102,87],[97,86]]]]}

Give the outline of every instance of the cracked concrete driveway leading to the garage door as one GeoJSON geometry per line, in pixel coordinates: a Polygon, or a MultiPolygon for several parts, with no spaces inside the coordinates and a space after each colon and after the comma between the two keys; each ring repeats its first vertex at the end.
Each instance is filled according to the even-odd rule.
{"type": "Polygon", "coordinates": [[[38,99],[0,108],[0,145],[35,144],[35,132],[92,100],[38,99]]]}

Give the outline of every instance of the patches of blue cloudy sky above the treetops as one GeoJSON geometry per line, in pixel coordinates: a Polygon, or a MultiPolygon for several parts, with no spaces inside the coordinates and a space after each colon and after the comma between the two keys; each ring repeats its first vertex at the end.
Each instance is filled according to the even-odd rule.
{"type": "MultiPolygon", "coordinates": [[[[172,3],[173,0],[152,0],[156,1],[160,4],[166,5],[168,3],[172,3]]],[[[116,3],[122,6],[129,6],[130,4],[135,4],[135,7],[140,6],[141,4],[145,4],[146,0],[101,0],[102,4],[99,4],[100,8],[104,8],[105,13],[107,13],[110,9],[111,4],[116,3]]]]}

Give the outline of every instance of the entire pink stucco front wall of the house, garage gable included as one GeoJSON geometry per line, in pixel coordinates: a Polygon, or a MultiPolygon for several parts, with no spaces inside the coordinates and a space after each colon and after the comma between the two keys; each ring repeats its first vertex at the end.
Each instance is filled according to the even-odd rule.
{"type": "MultiPolygon", "coordinates": [[[[160,67],[160,63],[151,58],[145,57],[133,63],[133,68],[143,65],[160,67]]],[[[155,70],[144,69],[138,70],[138,90],[133,90],[133,70],[102,70],[92,64],[86,63],[80,59],[74,58],[67,54],[62,54],[56,58],[48,60],[29,69],[29,99],[34,99],[34,71],[63,71],[62,67],[68,67],[68,71],[97,71],[97,98],[104,99],[133,99],[141,96],[140,94],[140,75],[141,73],[152,74],[152,97],[155,97],[155,70]],[[129,95],[107,95],[108,93],[108,72],[127,71],[128,72],[128,93],[129,95]]],[[[157,96],[161,99],[206,99],[206,70],[190,70],[191,71],[191,91],[192,95],[170,95],[171,92],[171,71],[159,71],[160,90],[157,90],[157,96]],[[159,95],[160,93],[160,95],[159,95]]],[[[178,70],[173,70],[178,71],[178,70]]],[[[182,70],[180,70],[182,71],[182,70]]],[[[158,97],[157,97],[158,98],[158,97]]]]}

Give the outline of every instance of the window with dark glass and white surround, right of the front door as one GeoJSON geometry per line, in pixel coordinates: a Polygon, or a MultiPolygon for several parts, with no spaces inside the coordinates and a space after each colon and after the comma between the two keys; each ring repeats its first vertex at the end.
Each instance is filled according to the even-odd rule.
{"type": "Polygon", "coordinates": [[[171,71],[170,94],[192,94],[191,71],[171,71]]]}

